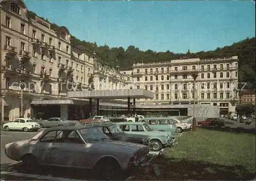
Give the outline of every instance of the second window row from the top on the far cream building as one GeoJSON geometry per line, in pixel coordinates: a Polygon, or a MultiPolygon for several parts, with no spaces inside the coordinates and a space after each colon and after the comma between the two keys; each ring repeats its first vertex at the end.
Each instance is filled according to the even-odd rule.
{"type": "MultiPolygon", "coordinates": [[[[213,74],[213,78],[217,78],[217,73],[214,73],[213,74]]],[[[236,77],[238,77],[238,72],[236,72],[236,77]]],[[[226,78],[229,78],[230,77],[230,73],[229,72],[226,72],[226,78]]],[[[201,78],[204,79],[204,74],[202,73],[201,74],[201,78]]],[[[207,79],[210,79],[210,73],[207,74],[207,79]]],[[[220,77],[219,78],[224,78],[223,77],[223,72],[220,72],[220,77]]],[[[174,76],[174,79],[178,79],[178,75],[175,75],[174,76]]],[[[182,75],[182,79],[187,79],[187,75],[182,75]]],[[[127,80],[130,81],[130,77],[127,77],[127,80]]],[[[145,76],[145,81],[148,81],[148,77],[145,76]]],[[[155,76],[155,80],[158,81],[158,76],[155,76]]],[[[164,76],[162,75],[161,76],[161,80],[164,80],[164,76]]],[[[167,75],[166,76],[166,80],[170,80],[170,76],[167,75]]],[[[137,77],[137,81],[140,81],[140,77],[137,77]]],[[[153,81],[153,76],[150,76],[150,81],[153,81]]]]}

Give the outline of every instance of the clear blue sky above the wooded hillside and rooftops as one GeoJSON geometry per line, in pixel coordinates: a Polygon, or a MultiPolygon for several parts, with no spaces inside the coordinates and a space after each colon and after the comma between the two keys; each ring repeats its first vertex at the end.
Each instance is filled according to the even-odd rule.
{"type": "Polygon", "coordinates": [[[253,1],[25,1],[28,10],[98,46],[174,53],[255,36],[253,1]]]}

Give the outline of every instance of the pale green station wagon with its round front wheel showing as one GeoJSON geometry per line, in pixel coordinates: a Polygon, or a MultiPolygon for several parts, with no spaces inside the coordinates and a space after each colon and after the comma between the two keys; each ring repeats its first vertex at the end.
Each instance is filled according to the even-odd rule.
{"type": "Polygon", "coordinates": [[[163,131],[155,131],[147,123],[143,122],[122,122],[116,123],[123,132],[129,134],[143,134],[150,137],[153,151],[160,151],[163,147],[173,145],[175,136],[163,131]]]}

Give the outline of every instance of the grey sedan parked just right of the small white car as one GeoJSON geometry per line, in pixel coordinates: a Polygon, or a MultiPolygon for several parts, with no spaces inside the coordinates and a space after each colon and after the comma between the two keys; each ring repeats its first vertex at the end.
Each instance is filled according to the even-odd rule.
{"type": "Polygon", "coordinates": [[[57,127],[57,126],[74,126],[75,121],[68,121],[65,118],[50,118],[47,121],[38,121],[41,128],[57,127]]]}

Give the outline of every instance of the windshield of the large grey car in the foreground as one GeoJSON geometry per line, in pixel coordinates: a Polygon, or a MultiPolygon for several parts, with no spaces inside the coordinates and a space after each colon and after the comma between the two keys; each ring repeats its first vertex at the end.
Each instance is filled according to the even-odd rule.
{"type": "Polygon", "coordinates": [[[83,128],[80,129],[79,132],[87,143],[96,143],[108,139],[108,137],[106,137],[106,135],[96,127],[83,128]]]}

